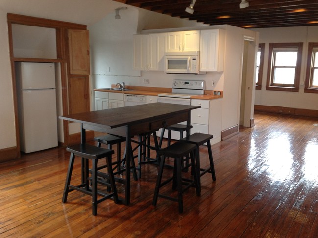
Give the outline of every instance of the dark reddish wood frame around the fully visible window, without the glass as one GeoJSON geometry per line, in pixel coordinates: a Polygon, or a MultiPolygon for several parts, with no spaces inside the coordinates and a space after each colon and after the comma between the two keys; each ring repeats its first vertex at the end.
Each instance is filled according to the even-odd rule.
{"type": "Polygon", "coordinates": [[[289,91],[289,92],[299,92],[300,83],[300,71],[301,71],[301,61],[302,61],[302,49],[303,43],[269,43],[269,63],[267,70],[267,83],[266,90],[273,91],[289,91]],[[297,62],[295,66],[295,80],[294,84],[274,84],[273,74],[274,74],[274,49],[281,48],[282,50],[287,48],[297,48],[297,62]]]}

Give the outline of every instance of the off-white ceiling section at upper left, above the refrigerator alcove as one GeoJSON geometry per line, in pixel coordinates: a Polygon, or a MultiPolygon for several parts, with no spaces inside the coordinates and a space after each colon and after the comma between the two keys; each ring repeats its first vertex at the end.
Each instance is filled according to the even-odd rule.
{"type": "MultiPolygon", "coordinates": [[[[6,13],[91,25],[122,3],[111,0],[0,0],[6,13]]],[[[125,5],[126,6],[126,5],[125,5]]]]}

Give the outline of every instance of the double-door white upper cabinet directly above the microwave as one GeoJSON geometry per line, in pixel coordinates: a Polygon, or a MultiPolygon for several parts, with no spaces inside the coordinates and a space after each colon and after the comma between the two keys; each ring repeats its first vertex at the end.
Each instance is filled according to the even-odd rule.
{"type": "Polygon", "coordinates": [[[167,52],[199,51],[200,31],[177,31],[167,33],[167,52]]]}

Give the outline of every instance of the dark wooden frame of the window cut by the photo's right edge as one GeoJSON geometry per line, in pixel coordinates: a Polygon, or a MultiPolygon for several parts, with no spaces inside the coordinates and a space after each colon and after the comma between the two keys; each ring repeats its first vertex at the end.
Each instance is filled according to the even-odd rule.
{"type": "MultiPolygon", "coordinates": [[[[317,49],[318,52],[318,42],[309,42],[308,43],[308,54],[307,54],[307,66],[306,66],[306,78],[305,78],[305,93],[318,93],[318,87],[312,87],[311,81],[313,76],[313,56],[314,49],[317,49]]],[[[315,51],[316,52],[316,51],[315,51]]],[[[316,59],[318,60],[318,58],[316,59]]]]}

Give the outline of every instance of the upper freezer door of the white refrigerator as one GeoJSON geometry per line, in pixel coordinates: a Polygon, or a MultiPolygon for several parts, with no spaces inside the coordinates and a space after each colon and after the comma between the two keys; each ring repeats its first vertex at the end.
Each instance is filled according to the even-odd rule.
{"type": "Polygon", "coordinates": [[[22,90],[56,87],[54,63],[22,62],[18,78],[22,90]]]}

